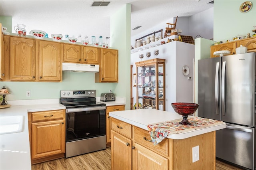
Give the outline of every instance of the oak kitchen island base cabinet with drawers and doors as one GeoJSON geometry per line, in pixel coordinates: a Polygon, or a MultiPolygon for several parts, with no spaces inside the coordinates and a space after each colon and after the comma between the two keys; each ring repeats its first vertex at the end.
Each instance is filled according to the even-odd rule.
{"type": "Polygon", "coordinates": [[[190,138],[165,138],[153,145],[147,130],[112,118],[111,169],[215,169],[215,131],[190,138]],[[192,163],[190,148],[199,146],[200,160],[192,163]]]}

